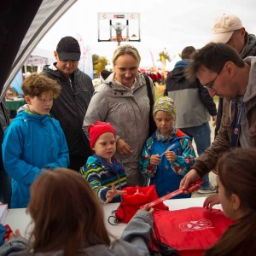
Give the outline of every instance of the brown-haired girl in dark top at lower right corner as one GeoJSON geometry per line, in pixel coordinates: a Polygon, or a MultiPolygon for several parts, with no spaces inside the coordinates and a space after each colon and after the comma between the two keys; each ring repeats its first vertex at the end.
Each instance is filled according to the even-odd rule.
{"type": "Polygon", "coordinates": [[[236,220],[205,256],[256,255],[256,148],[235,148],[217,165],[218,195],[224,214],[236,220]]]}

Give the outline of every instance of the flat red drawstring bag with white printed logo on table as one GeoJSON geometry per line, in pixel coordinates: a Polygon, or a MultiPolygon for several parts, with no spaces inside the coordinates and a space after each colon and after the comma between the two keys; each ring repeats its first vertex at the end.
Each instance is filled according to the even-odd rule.
{"type": "Polygon", "coordinates": [[[174,248],[181,256],[202,255],[234,223],[221,210],[212,209],[210,212],[204,207],[157,211],[153,215],[154,236],[150,248],[164,255],[171,254],[163,252],[163,247],[164,251],[174,248]]]}

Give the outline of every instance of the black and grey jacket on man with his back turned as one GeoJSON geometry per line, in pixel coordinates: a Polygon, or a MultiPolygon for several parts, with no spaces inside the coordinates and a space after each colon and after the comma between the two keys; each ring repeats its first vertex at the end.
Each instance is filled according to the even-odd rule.
{"type": "Polygon", "coordinates": [[[178,61],[175,68],[166,79],[165,96],[173,99],[176,105],[177,128],[189,128],[203,125],[217,114],[217,108],[198,79],[189,81],[185,78],[184,68],[189,60],[178,61]]]}

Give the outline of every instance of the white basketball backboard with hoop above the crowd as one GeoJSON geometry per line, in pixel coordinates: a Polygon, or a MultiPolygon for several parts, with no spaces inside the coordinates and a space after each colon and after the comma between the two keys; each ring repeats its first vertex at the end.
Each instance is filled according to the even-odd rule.
{"type": "Polygon", "coordinates": [[[141,41],[138,13],[98,13],[98,41],[141,41]]]}

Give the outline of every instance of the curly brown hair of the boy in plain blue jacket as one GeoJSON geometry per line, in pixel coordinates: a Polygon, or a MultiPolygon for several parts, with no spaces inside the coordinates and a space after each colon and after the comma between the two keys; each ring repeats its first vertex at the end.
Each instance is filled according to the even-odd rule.
{"type": "Polygon", "coordinates": [[[32,73],[24,80],[21,89],[24,96],[41,96],[43,92],[52,91],[54,98],[56,98],[61,92],[61,85],[43,74],[32,73]]]}

